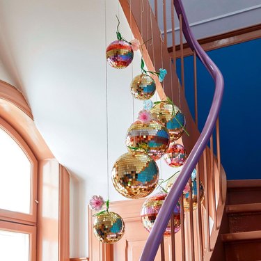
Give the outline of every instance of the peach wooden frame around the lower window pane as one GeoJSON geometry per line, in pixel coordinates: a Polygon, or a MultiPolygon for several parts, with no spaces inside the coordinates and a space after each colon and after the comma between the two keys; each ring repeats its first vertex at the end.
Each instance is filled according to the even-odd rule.
{"type": "Polygon", "coordinates": [[[36,226],[0,221],[0,230],[29,234],[29,261],[36,260],[36,226]]]}

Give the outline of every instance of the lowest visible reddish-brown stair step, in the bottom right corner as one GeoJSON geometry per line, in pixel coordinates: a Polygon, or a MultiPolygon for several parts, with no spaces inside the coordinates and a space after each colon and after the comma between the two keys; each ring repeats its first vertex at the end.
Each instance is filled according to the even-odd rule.
{"type": "Polygon", "coordinates": [[[222,235],[227,261],[261,260],[261,230],[222,235]]]}

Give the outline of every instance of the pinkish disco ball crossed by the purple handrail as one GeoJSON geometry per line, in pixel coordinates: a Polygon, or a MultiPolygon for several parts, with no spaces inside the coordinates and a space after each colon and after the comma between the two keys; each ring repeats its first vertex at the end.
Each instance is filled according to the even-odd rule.
{"type": "MultiPolygon", "coordinates": [[[[164,203],[167,193],[157,193],[156,195],[150,196],[145,200],[141,208],[141,222],[143,227],[150,232],[155,223],[159,209],[164,203]]],[[[173,210],[175,233],[180,230],[180,204],[177,203],[173,210]]],[[[168,226],[164,232],[164,235],[171,235],[171,221],[168,222],[168,226]]]]}

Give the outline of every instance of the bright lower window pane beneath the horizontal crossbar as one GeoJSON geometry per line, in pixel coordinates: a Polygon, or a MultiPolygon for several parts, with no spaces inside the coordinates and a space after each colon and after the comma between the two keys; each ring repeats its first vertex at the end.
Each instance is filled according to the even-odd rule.
{"type": "Polygon", "coordinates": [[[29,261],[30,235],[0,230],[0,260],[29,261]]]}

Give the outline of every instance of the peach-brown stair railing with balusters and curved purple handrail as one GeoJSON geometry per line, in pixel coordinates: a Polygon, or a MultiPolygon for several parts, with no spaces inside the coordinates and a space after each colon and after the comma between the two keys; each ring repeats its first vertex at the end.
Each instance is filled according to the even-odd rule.
{"type": "MultiPolygon", "coordinates": [[[[186,116],[187,129],[190,136],[183,135],[182,141],[189,152],[189,157],[182,171],[173,184],[171,191],[162,205],[155,225],[150,232],[148,240],[141,255],[141,261],[155,260],[155,255],[161,245],[161,260],[175,260],[175,253],[171,254],[171,259],[164,256],[164,244],[161,244],[164,231],[171,219],[173,209],[182,195],[182,191],[190,180],[194,168],[197,170],[197,190],[198,190],[198,208],[192,210],[192,199],[190,198],[190,212],[184,215],[182,219],[182,260],[210,260],[219,236],[219,228],[224,212],[224,203],[226,201],[226,175],[221,166],[220,144],[219,144],[219,110],[223,96],[223,77],[219,68],[205,54],[198,42],[191,33],[187,17],[184,13],[181,0],[171,2],[171,17],[166,17],[166,0],[162,1],[162,15],[164,18],[164,40],[161,37],[161,31],[157,24],[159,1],[155,0],[154,13],[148,0],[119,0],[125,16],[132,29],[135,38],[141,42],[152,39],[145,43],[143,47],[143,58],[148,70],[165,68],[168,74],[161,86],[157,82],[157,93],[161,100],[166,96],[171,97],[173,102],[180,106],[186,116]],[[180,22],[180,53],[181,53],[181,84],[176,74],[175,52],[172,56],[168,54],[168,38],[166,31],[166,21],[171,21],[172,42],[175,45],[175,19],[174,8],[180,22]],[[185,93],[184,93],[184,56],[182,54],[183,35],[193,51],[194,64],[194,89],[195,89],[195,120],[193,120],[189,111],[185,93]],[[202,132],[198,131],[198,100],[197,100],[197,82],[196,82],[196,64],[197,58],[205,65],[214,79],[215,90],[212,99],[212,105],[209,109],[207,120],[202,132]],[[213,132],[216,127],[216,156],[214,155],[214,137],[213,132]],[[210,144],[208,147],[208,143],[210,144]],[[205,187],[205,200],[200,204],[199,187],[200,181],[205,187]]],[[[174,48],[175,49],[175,48],[174,48]]],[[[182,202],[182,200],[181,200],[182,202]]],[[[182,209],[183,216],[183,209],[182,209]]],[[[175,244],[175,235],[173,233],[173,245],[175,244]]],[[[173,249],[174,246],[172,247],[173,249]]],[[[136,260],[135,260],[136,261],[136,260]]]]}

